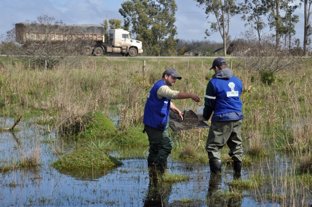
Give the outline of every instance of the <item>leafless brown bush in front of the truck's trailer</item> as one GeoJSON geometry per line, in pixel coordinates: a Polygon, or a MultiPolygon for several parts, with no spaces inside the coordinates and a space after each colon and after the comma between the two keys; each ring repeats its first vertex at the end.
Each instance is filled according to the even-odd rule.
{"type": "Polygon", "coordinates": [[[37,20],[15,24],[15,28],[7,32],[6,39],[14,43],[12,45],[20,45],[15,46],[16,53],[23,54],[20,58],[52,69],[61,61],[77,62],[77,58],[66,57],[86,55],[93,42],[83,34],[77,26],[43,15],[37,20]]]}

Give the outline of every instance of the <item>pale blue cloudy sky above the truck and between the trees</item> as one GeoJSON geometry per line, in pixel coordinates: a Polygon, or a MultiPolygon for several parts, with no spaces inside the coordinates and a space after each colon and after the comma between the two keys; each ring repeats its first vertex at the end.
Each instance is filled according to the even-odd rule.
{"type": "MultiPolygon", "coordinates": [[[[117,18],[123,20],[118,12],[125,0],[0,0],[0,34],[13,28],[13,25],[26,20],[36,20],[38,16],[53,16],[67,24],[100,24],[104,19],[117,18]]],[[[176,0],[178,10],[176,22],[178,34],[176,38],[186,40],[204,40],[208,21],[214,21],[213,15],[206,18],[203,7],[198,7],[194,0],[176,0]]],[[[295,38],[303,42],[304,10],[296,10],[299,22],[295,26],[295,38]]],[[[231,18],[230,35],[239,38],[241,32],[249,30],[240,19],[241,15],[231,18]]],[[[267,27],[265,33],[272,33],[267,27]]],[[[222,42],[219,32],[207,39],[222,42]]],[[[143,42],[144,44],[144,42],[143,42]]]]}

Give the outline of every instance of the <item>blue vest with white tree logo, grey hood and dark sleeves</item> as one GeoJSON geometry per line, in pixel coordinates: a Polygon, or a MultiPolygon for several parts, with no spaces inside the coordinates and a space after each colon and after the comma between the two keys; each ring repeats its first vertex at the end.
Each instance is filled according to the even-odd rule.
{"type": "Polygon", "coordinates": [[[230,121],[243,118],[240,95],[242,82],[229,68],[223,68],[208,82],[203,117],[211,121],[230,121]]]}

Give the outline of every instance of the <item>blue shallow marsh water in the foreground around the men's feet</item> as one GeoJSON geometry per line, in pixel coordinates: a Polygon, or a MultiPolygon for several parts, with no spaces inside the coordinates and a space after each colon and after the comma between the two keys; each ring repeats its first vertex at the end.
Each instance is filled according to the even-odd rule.
{"type": "MultiPolygon", "coordinates": [[[[12,126],[14,120],[3,119],[2,128],[12,126]]],[[[2,172],[0,179],[0,204],[9,206],[92,206],[92,207],[144,207],[144,206],[281,206],[278,201],[265,198],[265,189],[249,190],[243,198],[214,199],[216,191],[229,190],[232,170],[224,167],[221,179],[212,183],[207,165],[189,165],[168,161],[171,174],[189,177],[188,181],[153,186],[145,159],[121,160],[123,165],[106,171],[58,171],[51,164],[59,159],[54,143],[56,135],[46,133],[30,123],[23,122],[15,132],[1,133],[1,165],[10,166],[40,151],[41,165],[33,168],[12,168],[2,172]],[[251,191],[251,193],[250,193],[251,191]],[[252,192],[254,191],[254,192],[252,192]],[[212,195],[212,196],[211,196],[212,195]],[[192,201],[187,203],[185,201],[192,201]],[[213,203],[210,202],[213,200],[213,203]],[[184,201],[184,202],[183,202],[184,201]]],[[[62,144],[61,144],[62,145],[62,144]]],[[[62,147],[62,146],[60,146],[62,147]]],[[[69,147],[66,151],[71,151],[69,147]]],[[[254,163],[243,168],[244,180],[258,167],[275,168],[287,172],[291,160],[285,156],[270,162],[254,163]],[[269,163],[269,164],[268,164],[269,163]],[[285,170],[286,169],[286,170],[285,170]]],[[[280,172],[280,173],[281,173],[280,172]]],[[[304,205],[302,205],[304,206],[304,205]]]]}

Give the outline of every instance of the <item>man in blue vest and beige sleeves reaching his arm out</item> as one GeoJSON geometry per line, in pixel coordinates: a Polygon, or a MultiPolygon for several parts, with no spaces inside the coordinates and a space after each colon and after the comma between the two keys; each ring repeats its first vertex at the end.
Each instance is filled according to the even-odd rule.
{"type": "Polygon", "coordinates": [[[182,93],[171,90],[176,80],[182,77],[173,68],[164,71],[162,79],[157,81],[151,88],[147,96],[144,108],[144,131],[147,132],[149,140],[148,166],[157,165],[158,168],[167,168],[167,158],[171,153],[173,143],[169,135],[169,111],[173,111],[183,119],[183,113],[175,107],[171,99],[191,98],[199,102],[200,98],[196,94],[182,93]]]}

